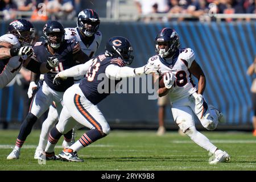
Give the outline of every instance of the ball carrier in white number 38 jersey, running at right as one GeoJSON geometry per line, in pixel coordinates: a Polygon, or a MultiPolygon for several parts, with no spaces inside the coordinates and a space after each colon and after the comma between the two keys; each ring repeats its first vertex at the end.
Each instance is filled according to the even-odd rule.
{"type": "MultiPolygon", "coordinates": [[[[210,164],[228,161],[229,155],[214,146],[195,127],[193,113],[207,130],[214,130],[218,122],[223,122],[222,113],[208,105],[203,97],[206,80],[203,70],[196,63],[195,52],[191,48],[179,49],[179,35],[171,28],[163,28],[159,32],[155,46],[158,55],[150,57],[148,63],[160,64],[159,73],[164,74],[164,87],[158,89],[158,94],[162,97],[169,93],[172,115],[180,130],[214,155],[210,164]],[[193,83],[192,75],[198,79],[198,85],[193,83]]],[[[158,81],[156,73],[154,80],[158,81]]]]}

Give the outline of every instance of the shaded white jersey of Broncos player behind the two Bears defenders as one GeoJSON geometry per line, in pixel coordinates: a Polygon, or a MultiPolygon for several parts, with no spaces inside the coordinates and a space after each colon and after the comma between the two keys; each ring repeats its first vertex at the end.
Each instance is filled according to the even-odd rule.
{"type": "MultiPolygon", "coordinates": [[[[82,35],[79,28],[65,28],[65,39],[75,39],[79,42],[82,52],[84,52],[91,59],[94,57],[95,52],[100,47],[102,35],[100,31],[94,34],[92,42],[85,42],[82,40],[82,35]]],[[[83,76],[75,77],[74,80],[79,81],[83,76]]]]}

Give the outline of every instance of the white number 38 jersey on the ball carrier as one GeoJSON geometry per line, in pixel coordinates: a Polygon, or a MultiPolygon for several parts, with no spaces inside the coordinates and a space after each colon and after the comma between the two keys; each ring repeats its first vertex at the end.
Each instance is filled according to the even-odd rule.
{"type": "Polygon", "coordinates": [[[188,97],[197,90],[197,85],[191,79],[189,68],[195,60],[195,53],[191,48],[179,49],[174,55],[174,59],[164,59],[155,55],[148,59],[148,63],[160,64],[160,74],[172,72],[175,76],[175,83],[170,90],[171,102],[188,97]]]}

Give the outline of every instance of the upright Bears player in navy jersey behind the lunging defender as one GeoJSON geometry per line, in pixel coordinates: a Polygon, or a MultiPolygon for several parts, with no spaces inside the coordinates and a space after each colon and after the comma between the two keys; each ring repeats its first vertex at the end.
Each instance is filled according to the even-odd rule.
{"type": "Polygon", "coordinates": [[[76,65],[76,61],[85,63],[88,56],[81,51],[80,44],[76,40],[65,40],[65,30],[61,23],[49,21],[43,28],[45,42],[35,44],[33,58],[44,63],[47,57],[59,61],[59,66],[52,69],[44,75],[43,86],[36,92],[30,106],[30,111],[24,119],[14,150],[7,159],[18,159],[20,148],[22,147],[27,136],[30,134],[32,126],[36,120],[49,108],[52,101],[55,101],[58,114],[62,109],[63,94],[65,90],[74,84],[73,78],[67,78],[60,82],[59,85],[53,83],[53,79],[60,71],[76,65]]]}

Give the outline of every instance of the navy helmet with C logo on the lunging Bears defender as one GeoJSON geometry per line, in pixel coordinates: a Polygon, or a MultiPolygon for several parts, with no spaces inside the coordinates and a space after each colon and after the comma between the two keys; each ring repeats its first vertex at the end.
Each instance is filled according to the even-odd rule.
{"type": "Polygon", "coordinates": [[[133,63],[134,56],[131,55],[133,47],[128,39],[122,36],[110,38],[105,46],[105,55],[122,59],[125,64],[133,63]]]}

